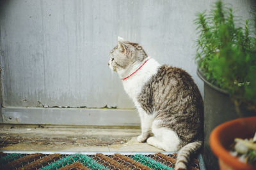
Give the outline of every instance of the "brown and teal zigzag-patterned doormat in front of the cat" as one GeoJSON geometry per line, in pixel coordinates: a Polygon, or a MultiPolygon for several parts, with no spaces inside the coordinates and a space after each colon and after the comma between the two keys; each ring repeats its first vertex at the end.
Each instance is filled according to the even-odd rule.
{"type": "MultiPolygon", "coordinates": [[[[174,169],[177,153],[164,154],[44,154],[0,153],[0,169],[174,169]]],[[[191,170],[200,169],[200,161],[193,159],[191,170]]],[[[204,168],[201,168],[204,170],[204,168]]]]}

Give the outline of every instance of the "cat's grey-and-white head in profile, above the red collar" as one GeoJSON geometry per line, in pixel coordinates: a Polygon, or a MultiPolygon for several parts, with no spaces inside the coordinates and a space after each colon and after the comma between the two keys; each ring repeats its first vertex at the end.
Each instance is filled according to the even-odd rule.
{"type": "Polygon", "coordinates": [[[131,69],[134,64],[143,62],[147,58],[147,54],[138,43],[125,41],[120,37],[118,37],[118,45],[113,48],[109,55],[108,65],[118,74],[131,69]]]}

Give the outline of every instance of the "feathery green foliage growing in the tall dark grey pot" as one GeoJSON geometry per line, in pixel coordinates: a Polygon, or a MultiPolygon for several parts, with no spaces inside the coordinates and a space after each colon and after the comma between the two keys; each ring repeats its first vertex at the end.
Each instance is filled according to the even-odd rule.
{"type": "Polygon", "coordinates": [[[232,8],[217,1],[208,15],[206,11],[198,13],[195,20],[198,69],[212,84],[228,91],[237,110],[245,104],[256,111],[256,15],[253,16],[253,20],[241,24],[232,8]]]}

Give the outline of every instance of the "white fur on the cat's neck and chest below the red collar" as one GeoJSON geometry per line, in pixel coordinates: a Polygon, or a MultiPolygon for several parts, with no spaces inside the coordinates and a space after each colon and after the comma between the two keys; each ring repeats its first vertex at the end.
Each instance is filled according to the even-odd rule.
{"type": "MultiPolygon", "coordinates": [[[[145,83],[147,83],[148,80],[150,80],[152,76],[157,73],[159,66],[160,64],[156,60],[149,59],[136,73],[134,73],[126,80],[123,80],[124,90],[127,92],[129,97],[132,98],[135,104],[137,103],[136,99],[140,94],[143,86],[145,83]]],[[[134,70],[136,69],[138,69],[138,66],[137,68],[134,68],[134,70]]]]}

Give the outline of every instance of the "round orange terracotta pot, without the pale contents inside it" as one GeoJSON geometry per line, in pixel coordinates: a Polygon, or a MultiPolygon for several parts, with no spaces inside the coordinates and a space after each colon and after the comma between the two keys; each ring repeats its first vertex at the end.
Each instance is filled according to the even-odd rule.
{"type": "Polygon", "coordinates": [[[218,125],[210,136],[210,146],[218,157],[220,169],[256,169],[230,155],[227,148],[234,142],[234,138],[253,138],[256,131],[256,117],[237,118],[218,125]]]}

